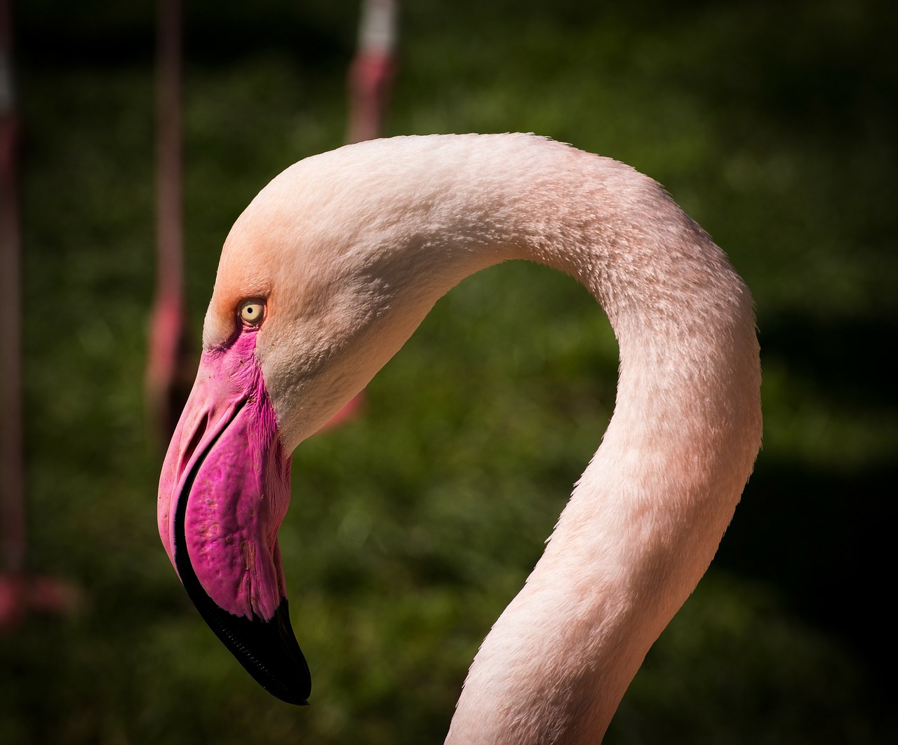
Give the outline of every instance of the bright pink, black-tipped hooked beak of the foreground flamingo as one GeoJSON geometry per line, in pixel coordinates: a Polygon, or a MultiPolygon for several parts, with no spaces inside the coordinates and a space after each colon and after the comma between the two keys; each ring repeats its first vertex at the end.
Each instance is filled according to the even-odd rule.
{"type": "Polygon", "coordinates": [[[277,545],[290,456],[253,354],[257,330],[200,359],[165,455],[159,534],[218,638],[263,688],[303,705],[312,679],[290,626],[277,545]]]}

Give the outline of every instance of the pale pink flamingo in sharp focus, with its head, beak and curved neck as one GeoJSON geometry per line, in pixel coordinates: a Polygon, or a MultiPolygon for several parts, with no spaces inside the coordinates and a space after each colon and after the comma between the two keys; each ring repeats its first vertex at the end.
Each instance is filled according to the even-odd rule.
{"type": "Polygon", "coordinates": [[[311,679],[277,529],[290,453],[463,277],[576,277],[620,347],[614,414],[524,588],[471,664],[450,743],[601,740],[705,573],[761,443],[748,289],[655,181],[531,135],[409,136],[295,163],[222,251],[159,531],[200,614],[275,696],[311,679]]]}

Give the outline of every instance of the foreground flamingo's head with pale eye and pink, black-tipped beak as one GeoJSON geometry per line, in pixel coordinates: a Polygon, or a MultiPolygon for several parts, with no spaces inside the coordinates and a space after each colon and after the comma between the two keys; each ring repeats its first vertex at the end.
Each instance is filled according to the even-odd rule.
{"type": "Polygon", "coordinates": [[[290,453],[365,388],[436,299],[409,294],[411,273],[385,253],[389,195],[368,191],[365,205],[316,160],[263,189],[225,241],[158,501],[163,546],[202,617],[295,704],[311,679],[277,544],[290,453]]]}

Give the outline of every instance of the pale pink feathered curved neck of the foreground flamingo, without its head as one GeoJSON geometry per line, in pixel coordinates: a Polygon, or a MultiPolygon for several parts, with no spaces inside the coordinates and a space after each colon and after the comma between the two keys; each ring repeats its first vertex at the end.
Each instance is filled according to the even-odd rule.
{"type": "Polygon", "coordinates": [[[611,320],[621,373],[602,446],[471,666],[447,740],[466,745],[601,738],[714,556],[761,436],[752,301],[723,252],[628,167],[532,150],[453,174],[489,195],[462,210],[449,190],[467,239],[455,266],[530,259],[577,277],[611,320]]]}

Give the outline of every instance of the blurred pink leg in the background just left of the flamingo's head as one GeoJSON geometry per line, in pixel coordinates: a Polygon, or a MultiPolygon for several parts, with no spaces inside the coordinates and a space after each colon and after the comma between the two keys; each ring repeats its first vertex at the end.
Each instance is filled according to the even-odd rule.
{"type": "Polygon", "coordinates": [[[156,289],[145,390],[154,434],[167,443],[197,369],[184,300],[180,0],[160,0],[158,24],[156,289]]]}

